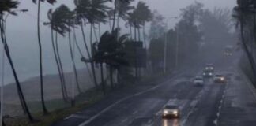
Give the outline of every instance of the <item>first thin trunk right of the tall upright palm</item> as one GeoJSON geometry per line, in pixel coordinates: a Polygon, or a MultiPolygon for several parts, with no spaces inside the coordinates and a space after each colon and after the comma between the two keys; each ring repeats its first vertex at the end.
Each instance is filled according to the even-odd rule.
{"type": "Polygon", "coordinates": [[[56,50],[55,50],[55,40],[54,40],[54,35],[53,35],[53,29],[51,28],[51,46],[52,46],[52,49],[54,51],[54,55],[55,55],[55,62],[56,62],[56,65],[57,65],[57,69],[58,69],[58,76],[59,76],[59,80],[61,82],[61,87],[62,87],[62,98],[65,102],[67,102],[67,99],[66,99],[66,94],[65,94],[65,91],[64,91],[64,87],[63,87],[63,79],[62,79],[62,73],[60,71],[60,68],[59,68],[59,63],[58,63],[58,58],[57,58],[57,54],[56,54],[56,50]]]}

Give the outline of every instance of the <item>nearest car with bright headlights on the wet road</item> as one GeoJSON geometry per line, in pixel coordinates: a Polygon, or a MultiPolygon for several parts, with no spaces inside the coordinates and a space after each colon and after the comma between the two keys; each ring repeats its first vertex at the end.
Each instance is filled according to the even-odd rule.
{"type": "Polygon", "coordinates": [[[179,116],[180,116],[179,106],[175,106],[175,105],[164,106],[162,117],[179,118],[179,116]]]}

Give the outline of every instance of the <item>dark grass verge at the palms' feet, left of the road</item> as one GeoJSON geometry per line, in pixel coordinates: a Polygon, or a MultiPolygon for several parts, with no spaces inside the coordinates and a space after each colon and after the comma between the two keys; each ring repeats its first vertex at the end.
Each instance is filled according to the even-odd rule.
{"type": "Polygon", "coordinates": [[[78,95],[76,98],[76,106],[71,107],[70,103],[63,102],[61,99],[47,101],[47,109],[56,109],[62,107],[62,109],[57,109],[51,111],[47,115],[42,115],[40,112],[40,102],[30,103],[31,110],[37,112],[33,114],[35,117],[35,122],[30,123],[27,117],[8,117],[5,119],[5,123],[8,126],[47,126],[51,125],[57,120],[62,120],[64,117],[68,117],[72,113],[76,113],[81,109],[86,109],[88,106],[92,106],[94,103],[100,101],[104,98],[104,95],[100,91],[96,91],[95,88],[88,90],[86,93],[78,95]]]}

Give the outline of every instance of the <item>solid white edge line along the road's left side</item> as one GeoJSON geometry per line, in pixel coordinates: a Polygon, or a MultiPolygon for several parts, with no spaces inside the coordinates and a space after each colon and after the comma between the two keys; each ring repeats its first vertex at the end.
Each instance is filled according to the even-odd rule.
{"type": "MultiPolygon", "coordinates": [[[[171,78],[171,80],[175,80],[176,78],[178,78],[179,76],[182,76],[182,75],[183,75],[183,73],[179,74],[178,76],[174,76],[173,78],[171,78]]],[[[167,80],[167,81],[170,81],[170,80],[167,80]]],[[[165,82],[167,82],[167,81],[165,81],[165,82]]],[[[122,98],[122,99],[118,100],[117,102],[113,103],[111,106],[108,106],[107,108],[103,109],[100,113],[97,113],[96,115],[92,116],[92,117],[89,118],[88,120],[85,120],[84,122],[82,122],[82,123],[79,124],[78,126],[85,126],[86,124],[90,123],[92,120],[96,119],[96,117],[100,117],[101,114],[107,112],[107,110],[111,109],[112,107],[114,107],[115,105],[119,104],[120,102],[123,102],[123,101],[125,101],[125,100],[127,100],[127,99],[129,99],[129,98],[133,98],[134,96],[142,95],[142,94],[145,94],[145,93],[147,93],[147,92],[149,92],[149,91],[153,91],[153,90],[155,90],[157,87],[160,87],[160,86],[166,84],[165,82],[163,82],[163,83],[161,83],[161,84],[159,84],[159,85],[156,85],[155,87],[152,87],[152,88],[150,88],[150,89],[148,89],[148,90],[146,90],[146,91],[141,91],[141,92],[139,92],[139,93],[137,93],[137,94],[130,95],[130,96],[127,96],[126,98],[122,98]]]]}

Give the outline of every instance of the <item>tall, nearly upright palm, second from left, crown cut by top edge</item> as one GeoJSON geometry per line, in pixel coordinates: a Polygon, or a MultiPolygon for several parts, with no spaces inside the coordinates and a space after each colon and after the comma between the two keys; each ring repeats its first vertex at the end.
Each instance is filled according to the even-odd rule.
{"type": "MultiPolygon", "coordinates": [[[[32,2],[36,3],[36,0],[32,0],[32,2]]],[[[42,43],[40,38],[40,3],[44,2],[44,0],[38,0],[37,3],[37,36],[38,36],[38,44],[39,44],[39,52],[40,52],[40,92],[41,92],[41,102],[43,107],[43,113],[47,114],[47,108],[44,102],[43,95],[43,52],[42,52],[42,43]]],[[[56,0],[47,0],[47,2],[54,4],[56,0]]]]}

